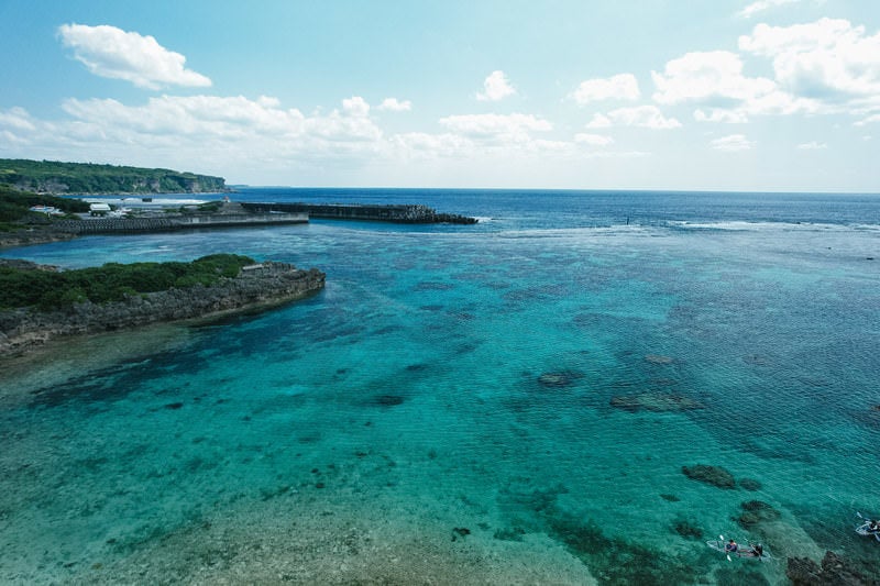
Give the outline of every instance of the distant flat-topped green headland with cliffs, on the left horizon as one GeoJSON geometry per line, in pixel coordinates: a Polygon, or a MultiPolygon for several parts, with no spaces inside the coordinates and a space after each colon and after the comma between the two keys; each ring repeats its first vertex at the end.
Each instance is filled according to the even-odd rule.
{"type": "Polygon", "coordinates": [[[46,194],[208,194],[226,179],[170,169],[0,158],[0,183],[46,194]]]}

